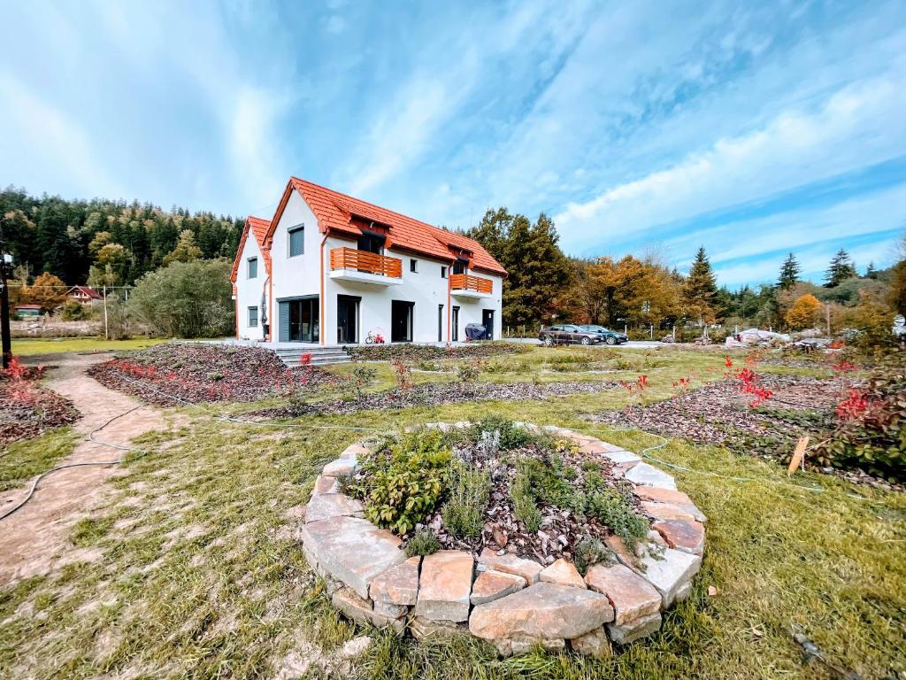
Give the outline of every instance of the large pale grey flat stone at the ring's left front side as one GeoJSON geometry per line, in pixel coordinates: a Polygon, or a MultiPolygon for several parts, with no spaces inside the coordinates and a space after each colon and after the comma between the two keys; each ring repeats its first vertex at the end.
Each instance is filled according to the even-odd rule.
{"type": "Polygon", "coordinates": [[[302,528],[302,540],[319,568],[360,597],[368,597],[371,581],[378,574],[406,559],[400,539],[355,517],[308,522],[302,528]]]}

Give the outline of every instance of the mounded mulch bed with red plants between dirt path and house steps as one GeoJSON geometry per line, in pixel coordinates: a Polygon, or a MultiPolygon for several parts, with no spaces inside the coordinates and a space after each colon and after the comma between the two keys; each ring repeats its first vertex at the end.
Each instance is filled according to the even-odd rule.
{"type": "Polygon", "coordinates": [[[316,393],[342,384],[340,376],[315,366],[287,368],[258,347],[167,343],[95,364],[99,383],[160,406],[190,402],[253,402],[275,394],[316,393]]]}

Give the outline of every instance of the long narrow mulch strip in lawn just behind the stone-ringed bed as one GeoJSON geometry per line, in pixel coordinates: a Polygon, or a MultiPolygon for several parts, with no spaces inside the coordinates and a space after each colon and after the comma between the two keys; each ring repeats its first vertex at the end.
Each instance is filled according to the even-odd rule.
{"type": "Polygon", "coordinates": [[[586,383],[448,383],[424,384],[410,389],[363,394],[361,399],[338,399],[331,402],[288,404],[254,413],[263,418],[294,418],[308,413],[348,415],[360,411],[406,409],[413,406],[444,406],[452,403],[484,400],[530,401],[573,394],[594,394],[620,389],[613,381],[586,383]]]}

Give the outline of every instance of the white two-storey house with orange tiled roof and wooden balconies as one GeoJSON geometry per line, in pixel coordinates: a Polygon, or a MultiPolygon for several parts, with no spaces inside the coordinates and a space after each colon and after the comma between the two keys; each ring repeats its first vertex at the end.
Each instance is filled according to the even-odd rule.
{"type": "Polygon", "coordinates": [[[246,220],[236,337],[450,342],[475,323],[499,339],[505,277],[471,238],[291,178],[274,219],[246,220]]]}

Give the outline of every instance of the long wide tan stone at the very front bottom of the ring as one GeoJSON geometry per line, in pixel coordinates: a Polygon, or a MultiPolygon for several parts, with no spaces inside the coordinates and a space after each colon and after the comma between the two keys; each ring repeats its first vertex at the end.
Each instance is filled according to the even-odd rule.
{"type": "Polygon", "coordinates": [[[468,629],[486,640],[573,639],[613,620],[613,607],[591,590],[535,583],[472,610],[468,629]]]}

